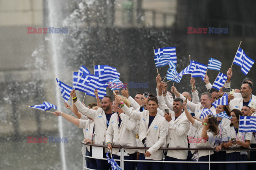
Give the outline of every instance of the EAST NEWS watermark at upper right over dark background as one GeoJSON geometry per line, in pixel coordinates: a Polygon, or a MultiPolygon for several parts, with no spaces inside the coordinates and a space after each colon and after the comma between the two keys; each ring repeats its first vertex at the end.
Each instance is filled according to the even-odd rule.
{"type": "Polygon", "coordinates": [[[193,28],[193,27],[188,27],[188,32],[187,33],[211,33],[211,34],[227,34],[228,33],[228,28],[214,28],[214,27],[208,27],[208,28],[193,28]]]}

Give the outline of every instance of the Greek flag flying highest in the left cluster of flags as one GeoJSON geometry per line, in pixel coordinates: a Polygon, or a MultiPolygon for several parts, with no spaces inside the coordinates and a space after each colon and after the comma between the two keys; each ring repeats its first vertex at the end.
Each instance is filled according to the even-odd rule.
{"type": "Polygon", "coordinates": [[[116,68],[109,65],[95,65],[94,73],[99,76],[99,81],[107,82],[120,78],[120,73],[117,72],[116,68]]]}

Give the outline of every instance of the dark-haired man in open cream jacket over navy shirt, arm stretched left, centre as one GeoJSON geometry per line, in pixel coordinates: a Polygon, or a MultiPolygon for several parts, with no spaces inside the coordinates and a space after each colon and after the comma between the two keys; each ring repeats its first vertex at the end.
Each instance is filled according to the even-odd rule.
{"type": "MultiPolygon", "coordinates": [[[[148,99],[147,110],[143,112],[131,111],[127,107],[120,97],[116,97],[118,103],[121,105],[124,113],[127,116],[130,116],[134,120],[140,121],[140,130],[139,130],[139,146],[138,147],[149,147],[148,150],[139,150],[140,157],[139,160],[162,160],[163,151],[158,150],[160,147],[165,146],[166,135],[167,135],[167,121],[161,115],[159,115],[158,100],[157,98],[148,99]]],[[[147,169],[163,169],[162,163],[144,163],[138,162],[138,170],[147,170],[147,169]]]]}

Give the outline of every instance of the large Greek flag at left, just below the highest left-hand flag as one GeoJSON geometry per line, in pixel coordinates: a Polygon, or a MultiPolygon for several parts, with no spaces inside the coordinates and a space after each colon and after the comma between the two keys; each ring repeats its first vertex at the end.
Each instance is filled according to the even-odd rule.
{"type": "Polygon", "coordinates": [[[98,89],[99,98],[107,95],[107,84],[106,82],[99,81],[98,75],[81,75],[82,73],[78,72],[74,72],[73,74],[73,87],[75,87],[75,90],[83,91],[86,95],[95,97],[94,90],[98,89]]]}

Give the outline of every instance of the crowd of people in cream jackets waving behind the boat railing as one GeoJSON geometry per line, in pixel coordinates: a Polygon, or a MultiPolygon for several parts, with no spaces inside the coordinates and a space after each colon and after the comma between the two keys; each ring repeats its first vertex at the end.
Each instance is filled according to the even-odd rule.
{"type": "MultiPolygon", "coordinates": [[[[232,70],[227,71],[225,88],[230,88],[232,70]]],[[[205,75],[205,91],[199,99],[195,79],[190,78],[191,92],[182,93],[173,86],[167,91],[167,84],[158,74],[156,77],[156,94],[137,92],[135,97],[129,96],[128,89],[115,91],[114,99],[105,96],[100,101],[97,89],[97,103],[85,106],[73,96],[74,104],[65,106],[76,117],[63,112],[54,112],[69,122],[83,128],[84,142],[106,145],[102,155],[111,150],[114,159],[119,159],[119,149],[112,146],[148,147],[149,149],[125,149],[125,159],[148,160],[148,162],[125,162],[125,169],[209,169],[208,163],[179,162],[223,162],[210,164],[217,169],[252,169],[255,163],[239,163],[240,161],[256,161],[256,151],[231,150],[234,148],[256,148],[255,132],[239,131],[240,116],[254,116],[256,97],[252,95],[253,81],[245,78],[241,87],[235,88],[234,94],[228,95],[228,105],[212,103],[221,98],[223,88],[211,89],[212,84],[205,75]],[[223,111],[231,118],[215,117],[211,114],[200,118],[203,109],[210,109],[212,114],[223,111]],[[215,148],[215,150],[158,150],[166,148],[215,148]],[[223,151],[223,149],[226,149],[223,151]],[[210,153],[210,158],[209,158],[210,153]],[[157,163],[150,160],[175,161],[175,163],[157,163]],[[234,162],[234,163],[225,163],[234,162]]],[[[256,114],[256,113],[255,113],[256,114]]],[[[92,147],[86,146],[86,155],[92,156],[92,147]]],[[[111,169],[107,160],[86,158],[86,166],[91,169],[111,169]]]]}

